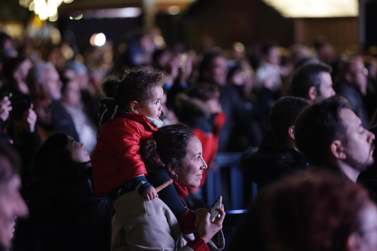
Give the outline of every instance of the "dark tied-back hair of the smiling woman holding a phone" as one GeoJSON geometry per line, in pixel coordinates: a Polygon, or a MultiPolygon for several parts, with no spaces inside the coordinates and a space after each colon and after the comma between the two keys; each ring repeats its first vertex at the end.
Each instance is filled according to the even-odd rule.
{"type": "Polygon", "coordinates": [[[141,141],[140,154],[147,170],[162,168],[170,173],[172,168],[181,168],[192,137],[194,132],[189,126],[176,124],[163,126],[152,138],[141,141]]]}

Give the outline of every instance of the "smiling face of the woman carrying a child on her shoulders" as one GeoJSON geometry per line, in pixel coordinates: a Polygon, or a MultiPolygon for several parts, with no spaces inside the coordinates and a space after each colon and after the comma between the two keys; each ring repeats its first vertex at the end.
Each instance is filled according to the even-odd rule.
{"type": "Polygon", "coordinates": [[[175,170],[178,175],[178,184],[184,187],[198,187],[205,169],[207,169],[207,164],[202,157],[202,144],[194,136],[187,146],[187,154],[182,160],[182,167],[175,170]]]}

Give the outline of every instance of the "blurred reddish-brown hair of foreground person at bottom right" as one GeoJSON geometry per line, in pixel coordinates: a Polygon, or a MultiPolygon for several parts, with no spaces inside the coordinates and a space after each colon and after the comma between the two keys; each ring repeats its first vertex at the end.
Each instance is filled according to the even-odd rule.
{"type": "Polygon", "coordinates": [[[262,190],[234,236],[233,249],[251,239],[255,250],[345,250],[362,231],[359,213],[368,203],[359,184],[329,173],[300,173],[262,190]]]}

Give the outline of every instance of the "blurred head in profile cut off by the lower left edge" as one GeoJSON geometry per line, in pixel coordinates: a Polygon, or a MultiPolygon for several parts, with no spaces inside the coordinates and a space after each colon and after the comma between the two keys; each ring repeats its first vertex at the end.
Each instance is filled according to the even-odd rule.
{"type": "Polygon", "coordinates": [[[20,195],[19,156],[0,145],[0,250],[11,248],[16,217],[28,216],[28,207],[20,195]]]}

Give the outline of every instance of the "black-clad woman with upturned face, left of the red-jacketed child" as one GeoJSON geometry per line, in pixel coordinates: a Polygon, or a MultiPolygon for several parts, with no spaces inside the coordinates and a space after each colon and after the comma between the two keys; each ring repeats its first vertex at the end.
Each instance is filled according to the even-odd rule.
{"type": "Polygon", "coordinates": [[[25,191],[30,208],[26,250],[109,250],[111,204],[94,196],[89,161],[84,144],[63,133],[38,150],[38,178],[25,191]]]}

